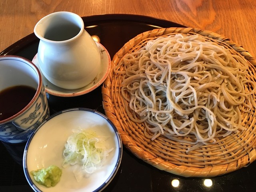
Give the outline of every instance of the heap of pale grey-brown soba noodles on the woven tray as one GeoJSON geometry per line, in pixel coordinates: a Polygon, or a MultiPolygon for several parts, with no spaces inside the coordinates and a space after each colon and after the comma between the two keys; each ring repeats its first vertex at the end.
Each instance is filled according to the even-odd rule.
{"type": "Polygon", "coordinates": [[[123,75],[122,96],[132,112],[127,114],[145,122],[145,136],[190,144],[189,152],[244,129],[241,110],[252,108],[256,88],[247,70],[242,57],[216,42],[173,34],[145,41],[114,71],[123,75]]]}

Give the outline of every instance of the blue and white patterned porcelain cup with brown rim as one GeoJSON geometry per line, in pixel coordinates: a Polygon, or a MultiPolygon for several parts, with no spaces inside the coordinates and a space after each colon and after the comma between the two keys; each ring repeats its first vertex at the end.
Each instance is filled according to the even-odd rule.
{"type": "MultiPolygon", "coordinates": [[[[13,55],[0,56],[0,94],[6,88],[18,85],[30,86],[36,90],[36,93],[22,110],[6,119],[0,119],[0,140],[7,143],[26,142],[32,132],[50,114],[39,69],[26,58],[13,55]]],[[[16,95],[18,102],[19,97],[16,95]]],[[[0,100],[0,102],[5,101],[0,100]]]]}

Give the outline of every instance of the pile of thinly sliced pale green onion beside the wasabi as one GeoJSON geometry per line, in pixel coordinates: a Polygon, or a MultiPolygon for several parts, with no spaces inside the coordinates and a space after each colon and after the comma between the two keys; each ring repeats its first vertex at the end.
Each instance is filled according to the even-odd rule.
{"type": "Polygon", "coordinates": [[[68,137],[63,151],[65,168],[70,165],[81,165],[80,169],[74,169],[76,180],[79,182],[84,174],[92,174],[100,168],[106,160],[109,152],[105,144],[105,137],[99,137],[91,130],[76,130],[68,137]]]}

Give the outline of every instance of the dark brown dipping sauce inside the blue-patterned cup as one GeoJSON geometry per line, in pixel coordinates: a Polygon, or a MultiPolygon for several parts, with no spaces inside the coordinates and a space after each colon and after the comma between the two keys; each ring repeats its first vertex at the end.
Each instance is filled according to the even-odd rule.
{"type": "Polygon", "coordinates": [[[0,121],[20,112],[32,100],[36,89],[26,85],[6,88],[0,92],[0,121]]]}

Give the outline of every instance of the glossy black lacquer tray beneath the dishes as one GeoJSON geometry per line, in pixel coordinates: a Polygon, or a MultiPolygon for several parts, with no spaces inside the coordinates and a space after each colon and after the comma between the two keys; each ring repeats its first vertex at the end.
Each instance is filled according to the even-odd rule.
{"type": "MultiPolygon", "coordinates": [[[[100,38],[110,57],[134,36],[155,28],[184,27],[180,24],[139,15],[105,14],[82,17],[86,31],[100,38]]],[[[34,33],[12,44],[0,55],[12,54],[32,60],[37,53],[39,39],[34,33]]],[[[50,113],[84,107],[104,114],[101,86],[76,97],[62,98],[48,95],[50,113]]],[[[22,168],[24,144],[0,142],[0,191],[32,192],[22,168]]],[[[256,162],[240,170],[214,178],[184,178],[158,170],[131,154],[126,148],[118,173],[104,192],[178,192],[178,191],[255,191],[256,162]],[[178,186],[175,184],[178,183],[178,186]],[[175,187],[176,186],[176,187],[175,187]]]]}

